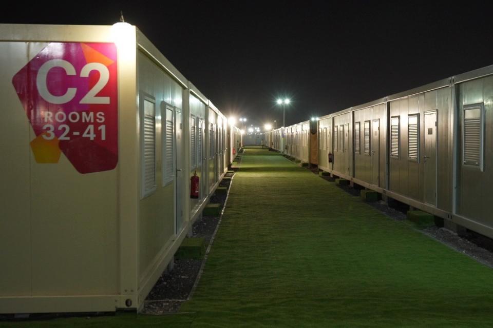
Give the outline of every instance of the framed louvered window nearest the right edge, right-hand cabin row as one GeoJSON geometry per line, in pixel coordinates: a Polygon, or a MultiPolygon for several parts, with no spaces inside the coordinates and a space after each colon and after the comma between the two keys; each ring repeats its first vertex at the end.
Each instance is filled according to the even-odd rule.
{"type": "Polygon", "coordinates": [[[483,170],[484,104],[464,106],[463,115],[463,151],[464,165],[479,167],[483,170]]]}

